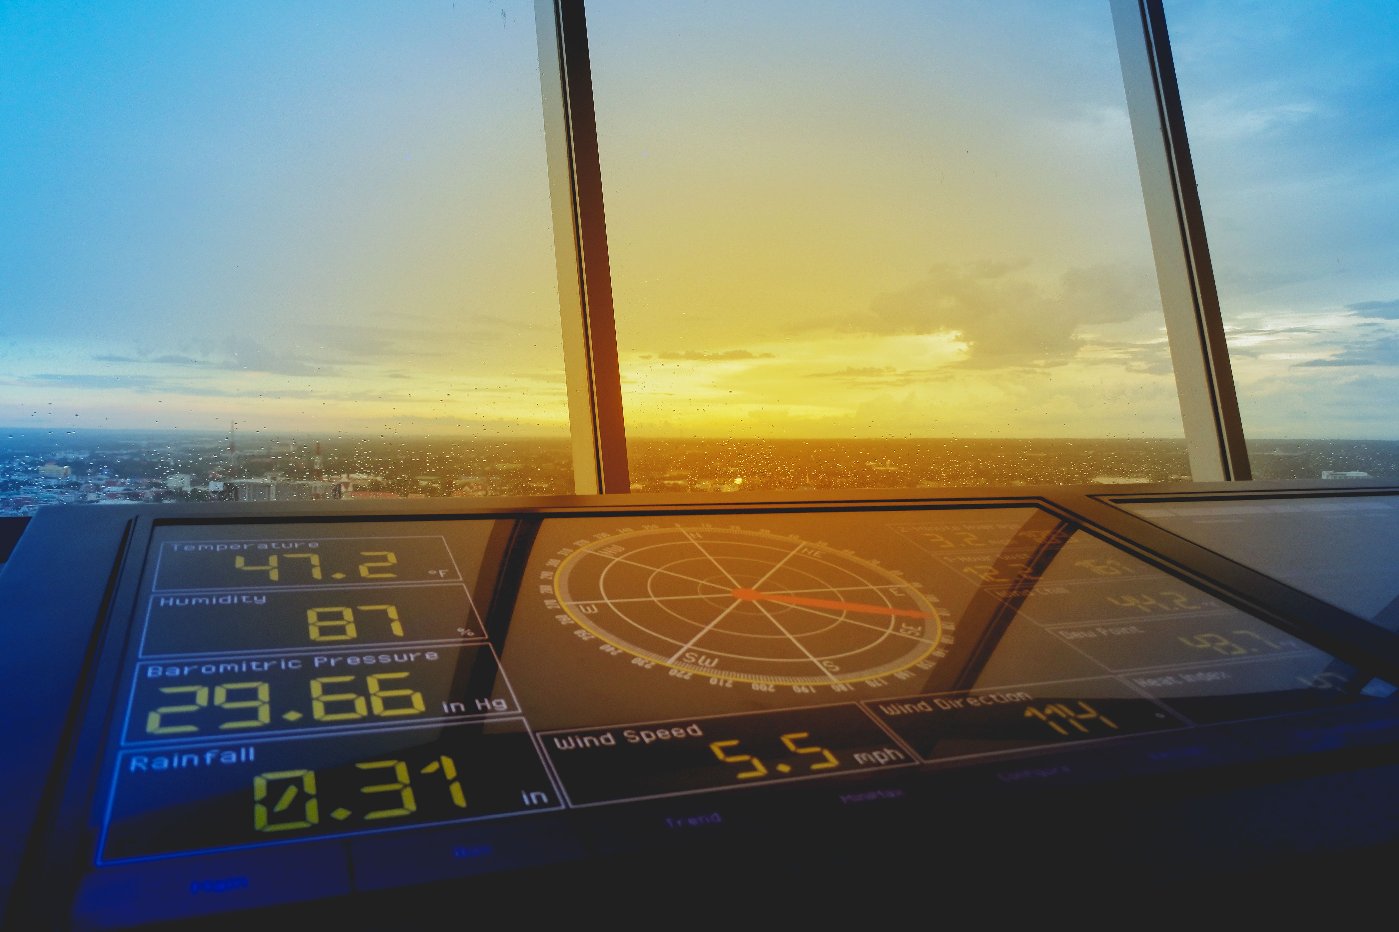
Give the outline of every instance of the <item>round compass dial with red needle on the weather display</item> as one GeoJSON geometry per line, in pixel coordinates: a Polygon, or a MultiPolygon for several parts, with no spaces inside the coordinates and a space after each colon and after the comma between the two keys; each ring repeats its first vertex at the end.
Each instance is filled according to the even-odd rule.
{"type": "Polygon", "coordinates": [[[852,553],[740,528],[624,531],[554,573],[578,625],[648,661],[702,676],[837,686],[942,655],[932,598],[852,553]],[[936,651],[936,653],[935,653],[936,651]]]}

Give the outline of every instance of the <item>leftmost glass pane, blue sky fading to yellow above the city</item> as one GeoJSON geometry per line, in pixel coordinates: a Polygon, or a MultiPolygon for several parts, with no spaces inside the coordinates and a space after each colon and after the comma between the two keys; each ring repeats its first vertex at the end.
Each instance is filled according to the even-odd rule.
{"type": "Polygon", "coordinates": [[[4,511],[572,489],[526,0],[6,4],[0,112],[4,511]]]}

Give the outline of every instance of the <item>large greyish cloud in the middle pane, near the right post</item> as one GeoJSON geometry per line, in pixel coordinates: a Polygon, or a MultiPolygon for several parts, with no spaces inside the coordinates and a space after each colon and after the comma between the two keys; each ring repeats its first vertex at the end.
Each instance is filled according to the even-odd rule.
{"type": "Polygon", "coordinates": [[[933,265],[928,277],[881,295],[867,313],[827,320],[841,333],[943,334],[967,347],[960,365],[1062,365],[1086,324],[1111,324],[1158,310],[1150,272],[1125,265],[1070,268],[1055,289],[1017,278],[1027,263],[933,265]]]}

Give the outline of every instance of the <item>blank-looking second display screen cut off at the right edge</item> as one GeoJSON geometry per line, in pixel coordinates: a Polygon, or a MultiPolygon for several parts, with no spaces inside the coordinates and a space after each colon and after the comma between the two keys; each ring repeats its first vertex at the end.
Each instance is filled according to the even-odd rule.
{"type": "Polygon", "coordinates": [[[1399,496],[1118,502],[1118,507],[1399,632],[1399,496]]]}

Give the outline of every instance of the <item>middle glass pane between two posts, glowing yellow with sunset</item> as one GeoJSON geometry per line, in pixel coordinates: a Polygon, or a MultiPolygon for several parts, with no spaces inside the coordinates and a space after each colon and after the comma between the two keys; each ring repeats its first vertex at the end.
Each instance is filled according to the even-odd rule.
{"type": "Polygon", "coordinates": [[[1188,478],[1107,4],[588,15],[641,488],[1188,478]]]}

